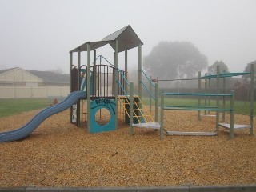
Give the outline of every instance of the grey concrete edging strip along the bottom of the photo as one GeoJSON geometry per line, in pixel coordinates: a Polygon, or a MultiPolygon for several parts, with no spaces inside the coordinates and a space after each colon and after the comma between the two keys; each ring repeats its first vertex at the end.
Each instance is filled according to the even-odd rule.
{"type": "Polygon", "coordinates": [[[160,187],[36,187],[22,186],[14,188],[1,188],[0,192],[91,192],[91,191],[107,191],[107,192],[256,192],[256,185],[244,186],[160,186],[160,187]]]}

